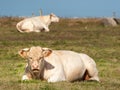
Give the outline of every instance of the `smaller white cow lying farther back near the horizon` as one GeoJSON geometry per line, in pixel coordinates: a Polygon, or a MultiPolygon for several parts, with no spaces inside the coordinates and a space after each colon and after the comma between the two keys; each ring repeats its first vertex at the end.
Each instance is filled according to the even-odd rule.
{"type": "Polygon", "coordinates": [[[26,18],[19,23],[17,23],[16,28],[19,32],[49,32],[49,25],[51,22],[59,22],[59,18],[55,14],[50,14],[46,16],[37,16],[26,18]]]}

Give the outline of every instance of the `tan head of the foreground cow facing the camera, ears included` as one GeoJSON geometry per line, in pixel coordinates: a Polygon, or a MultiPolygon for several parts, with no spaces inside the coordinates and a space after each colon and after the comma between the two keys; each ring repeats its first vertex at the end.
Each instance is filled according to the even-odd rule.
{"type": "Polygon", "coordinates": [[[51,53],[51,49],[39,46],[19,51],[19,55],[28,60],[28,68],[33,72],[40,72],[44,68],[44,57],[48,57],[51,53]]]}

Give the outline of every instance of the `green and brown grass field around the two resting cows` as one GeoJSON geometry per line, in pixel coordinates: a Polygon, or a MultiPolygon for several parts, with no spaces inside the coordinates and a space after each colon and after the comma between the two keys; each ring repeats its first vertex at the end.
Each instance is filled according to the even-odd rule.
{"type": "Polygon", "coordinates": [[[15,27],[18,21],[0,19],[0,90],[120,90],[120,25],[62,18],[50,26],[49,33],[19,33],[15,27]],[[97,64],[101,82],[21,81],[26,61],[18,51],[31,46],[88,54],[97,64]]]}

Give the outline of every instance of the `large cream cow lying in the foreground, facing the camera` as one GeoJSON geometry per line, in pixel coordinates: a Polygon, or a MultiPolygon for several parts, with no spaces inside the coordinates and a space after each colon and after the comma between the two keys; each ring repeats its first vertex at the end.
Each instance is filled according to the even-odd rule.
{"type": "Polygon", "coordinates": [[[83,53],[36,46],[20,50],[19,55],[28,60],[22,80],[99,81],[96,63],[83,53]]]}

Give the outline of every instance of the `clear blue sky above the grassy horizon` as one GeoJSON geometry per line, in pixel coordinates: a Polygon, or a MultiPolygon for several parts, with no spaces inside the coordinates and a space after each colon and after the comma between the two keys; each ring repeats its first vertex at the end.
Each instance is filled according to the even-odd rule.
{"type": "Polygon", "coordinates": [[[0,16],[120,17],[120,0],[0,0],[0,16]]]}

